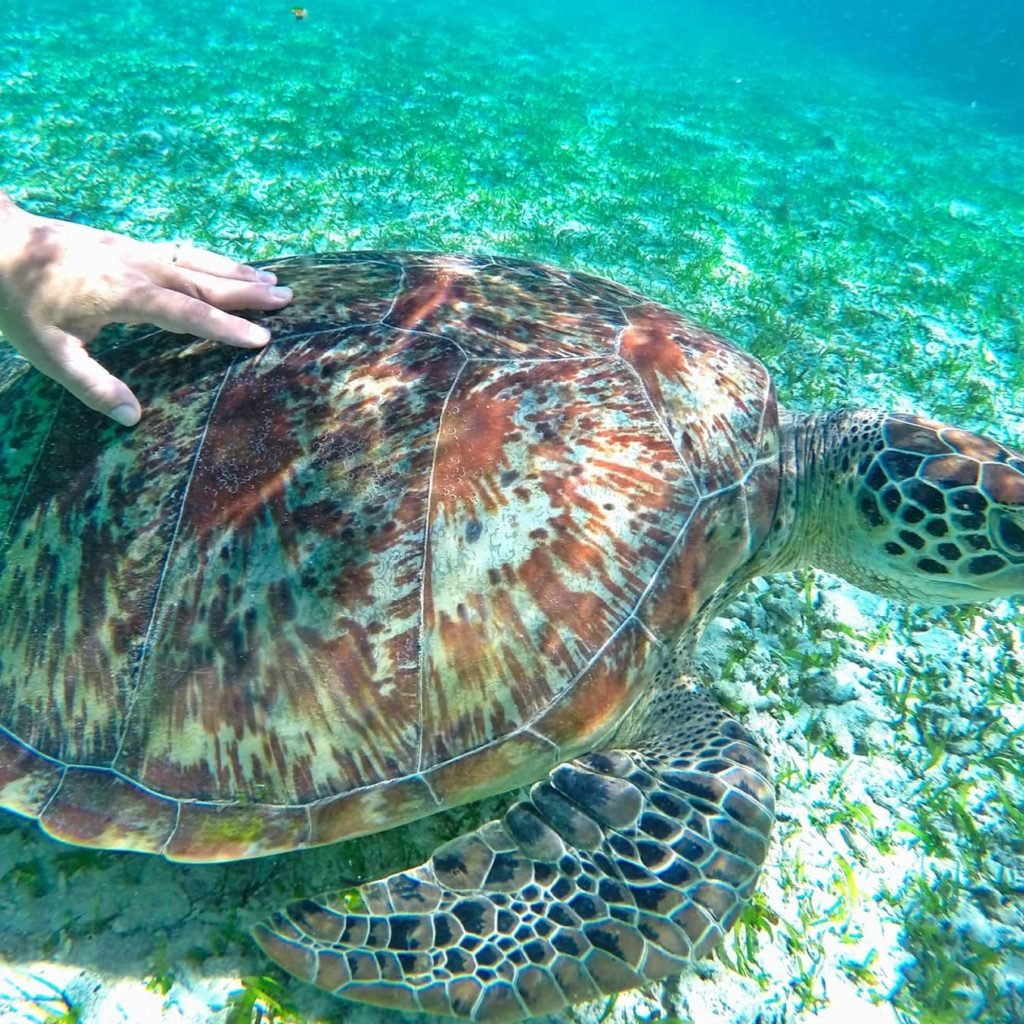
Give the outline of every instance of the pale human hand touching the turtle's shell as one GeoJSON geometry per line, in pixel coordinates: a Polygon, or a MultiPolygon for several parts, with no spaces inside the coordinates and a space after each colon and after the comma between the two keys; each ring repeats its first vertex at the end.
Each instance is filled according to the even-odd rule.
{"type": "Polygon", "coordinates": [[[141,407],[86,346],[108,324],[259,348],[269,332],[232,309],[276,309],[292,299],[271,273],[205,249],[138,242],[39,217],[0,193],[0,332],[37,370],[90,409],[134,426],[141,407]]]}

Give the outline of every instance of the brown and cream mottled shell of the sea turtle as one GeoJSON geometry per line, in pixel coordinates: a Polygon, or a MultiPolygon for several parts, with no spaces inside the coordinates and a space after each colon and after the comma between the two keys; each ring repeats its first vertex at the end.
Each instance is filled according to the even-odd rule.
{"type": "Polygon", "coordinates": [[[379,830],[606,740],[771,523],[764,367],[513,259],[267,264],[258,352],[93,346],[125,431],[0,362],[0,804],[225,860],[379,830]]]}

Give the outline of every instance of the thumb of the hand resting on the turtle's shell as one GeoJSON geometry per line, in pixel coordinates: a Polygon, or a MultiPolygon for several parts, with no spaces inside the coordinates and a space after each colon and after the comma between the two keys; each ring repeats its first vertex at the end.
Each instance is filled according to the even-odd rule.
{"type": "Polygon", "coordinates": [[[59,328],[46,328],[33,345],[18,346],[37,369],[52,377],[79,401],[109,416],[124,427],[133,427],[142,415],[131,388],[101,367],[86,350],[81,338],[59,328]]]}

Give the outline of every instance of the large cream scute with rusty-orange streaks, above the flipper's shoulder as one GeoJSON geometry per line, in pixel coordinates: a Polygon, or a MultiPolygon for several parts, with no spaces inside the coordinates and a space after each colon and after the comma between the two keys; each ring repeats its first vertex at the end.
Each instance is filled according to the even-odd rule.
{"type": "Polygon", "coordinates": [[[642,389],[613,360],[467,367],[433,494],[426,763],[507,733],[568,687],[641,600],[662,539],[696,501],[642,389]],[[502,487],[509,468],[519,472],[502,487]],[[480,525],[468,534],[469,523],[480,525]]]}

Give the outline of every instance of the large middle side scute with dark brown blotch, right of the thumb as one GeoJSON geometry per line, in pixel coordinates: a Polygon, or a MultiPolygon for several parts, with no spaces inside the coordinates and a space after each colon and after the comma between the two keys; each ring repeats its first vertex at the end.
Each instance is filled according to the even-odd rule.
{"type": "Polygon", "coordinates": [[[417,770],[429,473],[461,364],[372,330],[245,364],[182,503],[177,600],[155,622],[148,707],[119,768],[161,792],[176,777],[184,798],[302,804],[417,770]]]}

